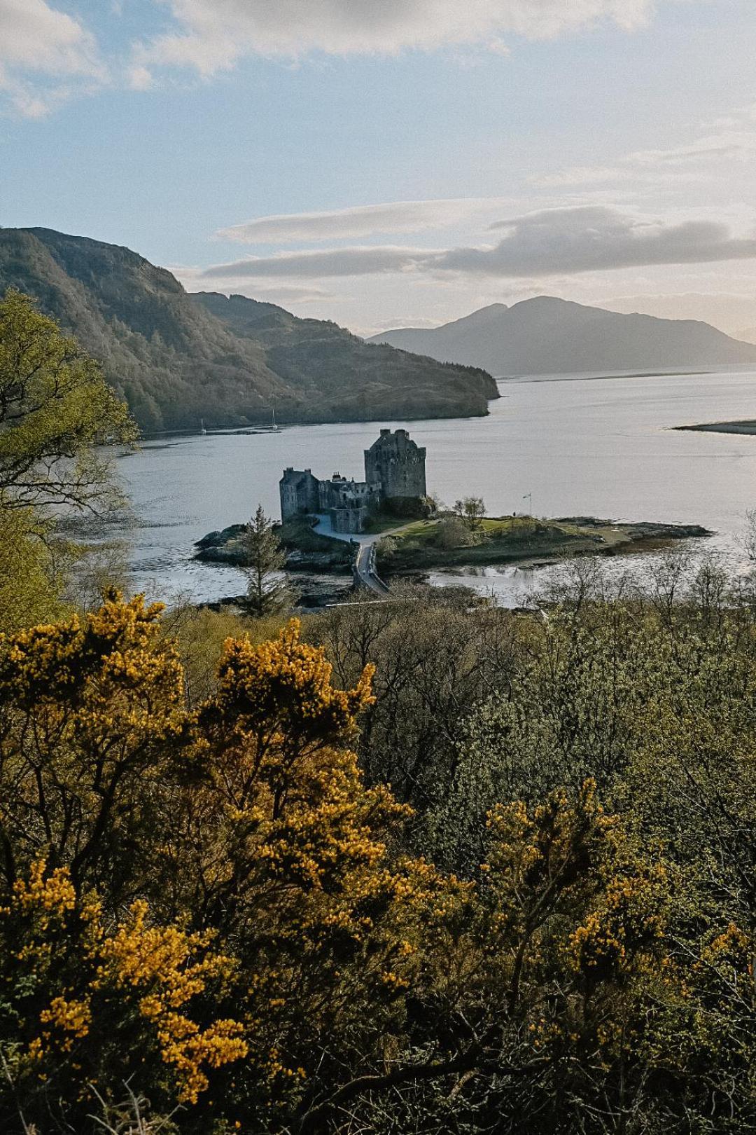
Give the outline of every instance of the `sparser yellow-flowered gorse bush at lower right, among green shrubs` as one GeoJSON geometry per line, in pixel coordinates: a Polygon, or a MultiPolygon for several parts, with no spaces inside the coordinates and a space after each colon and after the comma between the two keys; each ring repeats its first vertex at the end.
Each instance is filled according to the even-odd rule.
{"type": "Polygon", "coordinates": [[[484,865],[494,968],[540,1054],[593,1053],[609,1073],[639,1044],[665,968],[666,873],[634,851],[593,781],[530,812],[495,808],[484,865]],[[611,1007],[611,1008],[610,1008],[611,1007]]]}

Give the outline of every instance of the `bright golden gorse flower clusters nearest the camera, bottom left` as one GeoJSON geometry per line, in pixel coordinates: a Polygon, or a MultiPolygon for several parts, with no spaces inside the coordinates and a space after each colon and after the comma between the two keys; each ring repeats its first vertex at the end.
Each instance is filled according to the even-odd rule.
{"type": "MultiPolygon", "coordinates": [[[[210,933],[150,925],[144,901],[135,902],[112,933],[103,925],[99,903],[90,899],[78,910],[77,906],[67,869],[48,874],[44,860],[37,860],[29,878],[17,881],[10,905],[0,913],[2,930],[22,919],[26,942],[15,956],[17,981],[32,969],[50,990],[57,977],[62,978],[57,973],[56,949],[67,942],[67,949],[76,951],[65,990],[39,1012],[39,1032],[28,1040],[26,1059],[35,1068],[45,1058],[54,1065],[65,1054],[79,1054],[82,1043],[77,1042],[86,1044],[87,1037],[138,1014],[145,1023],[145,1042],[152,1037],[163,1062],[175,1071],[177,1099],[196,1103],[207,1087],[206,1068],[220,1068],[247,1053],[239,1022],[215,1019],[201,1027],[190,1016],[193,999],[209,983],[218,990],[219,982],[232,973],[233,962],[210,951],[210,933]]],[[[33,1019],[28,1028],[34,1032],[33,1019]]],[[[23,1068],[23,1054],[19,1058],[23,1068]]],[[[37,1075],[46,1078],[46,1074],[37,1075]]]]}

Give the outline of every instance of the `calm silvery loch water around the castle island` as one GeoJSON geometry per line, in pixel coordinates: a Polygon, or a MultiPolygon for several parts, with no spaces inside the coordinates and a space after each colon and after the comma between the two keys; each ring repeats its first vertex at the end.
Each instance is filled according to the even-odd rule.
{"type": "MultiPolygon", "coordinates": [[[[136,523],[135,588],[151,597],[237,595],[231,568],[192,562],[205,532],[244,521],[257,503],[279,515],[284,465],[363,473],[363,451],[382,424],[406,426],[427,447],[428,489],[443,501],[483,496],[491,514],[597,515],[698,523],[706,541],[739,558],[737,533],[756,506],[756,437],[674,432],[690,422],[756,418],[756,371],[660,378],[504,380],[484,419],[300,426],[277,435],[207,435],[147,442],[120,457],[136,523]]],[[[537,574],[537,573],[535,573],[537,574]]],[[[464,578],[519,599],[534,573],[507,569],[464,578]]],[[[442,582],[442,579],[438,580],[442,582]]]]}

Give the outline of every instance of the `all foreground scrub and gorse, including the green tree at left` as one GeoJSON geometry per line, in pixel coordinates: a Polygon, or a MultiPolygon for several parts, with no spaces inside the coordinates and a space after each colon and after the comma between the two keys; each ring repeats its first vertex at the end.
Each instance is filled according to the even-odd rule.
{"type": "Polygon", "coordinates": [[[130,423],[19,296],[0,395],[0,1130],[754,1129],[750,578],[93,604],[130,423]]]}

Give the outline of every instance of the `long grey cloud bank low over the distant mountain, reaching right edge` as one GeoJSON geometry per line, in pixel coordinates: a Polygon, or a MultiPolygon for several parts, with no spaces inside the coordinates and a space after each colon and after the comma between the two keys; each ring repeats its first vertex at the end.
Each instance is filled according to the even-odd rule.
{"type": "Polygon", "coordinates": [[[605,205],[543,209],[493,228],[493,245],[428,250],[366,245],[278,252],[215,264],[205,279],[296,279],[387,272],[523,278],[610,271],[652,264],[694,264],[756,258],[756,237],[733,236],[712,220],[664,222],[605,205]]]}

